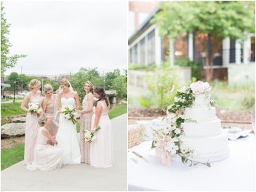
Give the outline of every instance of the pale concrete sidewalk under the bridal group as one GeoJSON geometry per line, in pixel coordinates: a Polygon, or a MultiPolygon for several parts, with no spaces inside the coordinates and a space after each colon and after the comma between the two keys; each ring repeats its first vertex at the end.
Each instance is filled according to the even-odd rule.
{"type": "Polygon", "coordinates": [[[1,171],[1,191],[127,191],[127,113],[111,120],[115,164],[100,169],[65,165],[55,171],[28,171],[23,161],[1,171]]]}

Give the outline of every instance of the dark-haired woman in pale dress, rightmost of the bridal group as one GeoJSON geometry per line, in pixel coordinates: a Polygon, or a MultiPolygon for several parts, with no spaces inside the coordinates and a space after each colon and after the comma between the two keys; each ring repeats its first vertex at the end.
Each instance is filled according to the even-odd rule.
{"type": "Polygon", "coordinates": [[[96,140],[91,143],[90,164],[92,167],[107,168],[114,163],[112,127],[111,120],[108,117],[110,105],[102,87],[96,87],[93,91],[98,100],[92,109],[91,131],[95,133],[96,140]],[[100,129],[95,132],[97,127],[100,127],[100,129]]]}

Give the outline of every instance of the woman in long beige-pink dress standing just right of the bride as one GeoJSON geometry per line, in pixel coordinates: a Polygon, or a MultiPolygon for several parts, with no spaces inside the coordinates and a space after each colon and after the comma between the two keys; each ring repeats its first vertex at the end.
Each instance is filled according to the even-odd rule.
{"type": "Polygon", "coordinates": [[[84,141],[84,130],[91,130],[92,121],[92,107],[93,107],[93,85],[91,81],[84,83],[84,91],[86,95],[83,100],[83,110],[81,113],[81,125],[80,125],[80,151],[81,151],[81,163],[89,164],[89,143],[84,141]]]}

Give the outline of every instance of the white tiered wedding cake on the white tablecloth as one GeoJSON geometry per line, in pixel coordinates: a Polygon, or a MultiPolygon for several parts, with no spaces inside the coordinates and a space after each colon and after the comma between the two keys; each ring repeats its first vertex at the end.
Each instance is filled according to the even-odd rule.
{"type": "Polygon", "coordinates": [[[201,162],[219,161],[229,156],[228,135],[221,128],[220,119],[215,115],[215,107],[210,105],[206,94],[194,95],[191,108],[184,111],[182,124],[184,145],[193,150],[193,160],[201,162]],[[195,120],[195,121],[194,121],[195,120]]]}

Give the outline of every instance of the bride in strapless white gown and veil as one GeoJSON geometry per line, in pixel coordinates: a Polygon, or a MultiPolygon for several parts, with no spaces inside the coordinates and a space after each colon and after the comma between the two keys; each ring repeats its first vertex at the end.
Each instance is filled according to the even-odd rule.
{"type": "Polygon", "coordinates": [[[78,108],[79,96],[73,91],[71,84],[66,79],[60,81],[61,91],[58,93],[58,110],[56,121],[59,128],[57,130],[56,140],[58,147],[63,151],[63,164],[80,164],[81,153],[79,145],[79,137],[76,133],[76,124],[65,119],[63,113],[60,113],[61,108],[68,106],[70,108],[78,108]]]}

